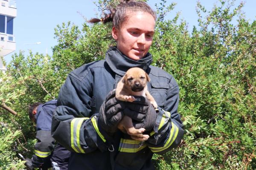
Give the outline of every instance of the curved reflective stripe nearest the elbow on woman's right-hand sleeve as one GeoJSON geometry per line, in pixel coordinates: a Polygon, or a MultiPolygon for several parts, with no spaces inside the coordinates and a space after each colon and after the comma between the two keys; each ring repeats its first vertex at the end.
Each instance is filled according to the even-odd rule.
{"type": "Polygon", "coordinates": [[[178,135],[179,129],[178,127],[172,122],[172,129],[170,132],[169,139],[166,141],[166,144],[163,147],[149,147],[152,152],[160,152],[162,150],[167,149],[172,145],[178,135]]]}

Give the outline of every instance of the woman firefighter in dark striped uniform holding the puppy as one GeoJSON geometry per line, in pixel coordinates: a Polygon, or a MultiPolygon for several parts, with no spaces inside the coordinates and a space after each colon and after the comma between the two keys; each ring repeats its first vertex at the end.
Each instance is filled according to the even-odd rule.
{"type": "Polygon", "coordinates": [[[116,47],[108,49],[104,60],[82,65],[68,74],[52,117],[52,137],[72,151],[69,170],[154,170],[153,153],[163,154],[177,147],[184,132],[177,113],[177,82],[150,65],[148,50],[156,14],[143,1],[122,0],[105,17],[89,22],[112,22],[116,47]],[[149,75],[148,90],[157,109],[142,96],[134,96],[134,102],[115,98],[117,83],[132,67],[142,68],[149,75]],[[131,117],[134,127],[145,132],[122,133],[117,125],[123,116],[131,117]],[[145,139],[143,134],[150,137],[145,139]]]}

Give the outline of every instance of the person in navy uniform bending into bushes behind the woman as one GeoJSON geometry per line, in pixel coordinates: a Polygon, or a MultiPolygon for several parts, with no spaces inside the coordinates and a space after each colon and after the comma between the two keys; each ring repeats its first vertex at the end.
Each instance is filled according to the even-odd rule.
{"type": "Polygon", "coordinates": [[[30,169],[67,170],[70,151],[60,144],[55,146],[55,139],[51,136],[52,113],[57,100],[46,103],[36,102],[29,107],[29,118],[36,123],[35,154],[32,159],[26,159],[26,166],[30,169]]]}

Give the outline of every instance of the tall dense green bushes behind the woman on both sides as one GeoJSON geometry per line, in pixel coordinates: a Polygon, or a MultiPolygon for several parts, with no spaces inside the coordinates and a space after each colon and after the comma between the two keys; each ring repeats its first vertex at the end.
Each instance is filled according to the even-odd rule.
{"type": "MultiPolygon", "coordinates": [[[[116,1],[99,2],[103,8],[116,1]]],[[[235,7],[234,1],[220,0],[220,4],[208,12],[198,2],[198,28],[191,33],[186,21],[178,23],[179,14],[165,20],[175,3],[167,6],[162,0],[157,5],[152,64],[175,77],[186,132],[178,148],[153,156],[157,170],[256,169],[256,21],[244,19],[243,3],[235,7]]],[[[13,56],[6,75],[1,75],[0,104],[19,116],[10,119],[13,116],[0,110],[0,117],[10,129],[24,134],[19,138],[20,153],[31,156],[35,138],[28,106],[57,98],[70,71],[103,59],[115,44],[110,33],[111,25],[84,23],[79,30],[63,23],[55,28],[58,44],[52,56],[25,57],[22,52],[13,56]]]]}

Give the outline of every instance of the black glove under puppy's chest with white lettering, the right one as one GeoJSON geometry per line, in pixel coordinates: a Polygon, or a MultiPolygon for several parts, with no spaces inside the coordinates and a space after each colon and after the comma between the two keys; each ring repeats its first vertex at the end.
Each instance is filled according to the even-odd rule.
{"type": "Polygon", "coordinates": [[[143,96],[134,96],[134,102],[124,102],[125,110],[123,113],[133,119],[136,129],[144,128],[151,131],[156,123],[158,110],[143,96]]]}

